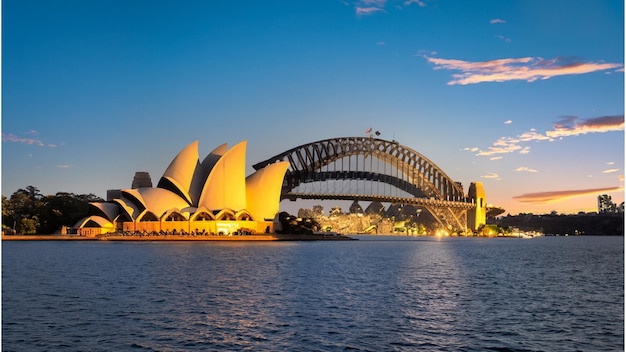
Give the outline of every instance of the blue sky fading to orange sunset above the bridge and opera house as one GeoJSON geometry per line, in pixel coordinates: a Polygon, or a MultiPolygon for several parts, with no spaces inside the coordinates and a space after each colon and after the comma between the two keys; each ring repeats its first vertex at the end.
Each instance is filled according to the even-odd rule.
{"type": "Polygon", "coordinates": [[[156,185],[196,140],[247,140],[252,173],[369,128],[512,215],[619,204],[624,2],[2,2],[4,196],[156,185]]]}

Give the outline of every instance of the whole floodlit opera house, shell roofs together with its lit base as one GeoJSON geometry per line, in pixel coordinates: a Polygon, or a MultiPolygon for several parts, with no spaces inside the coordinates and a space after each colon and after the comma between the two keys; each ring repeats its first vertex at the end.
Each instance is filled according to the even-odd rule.
{"type": "Polygon", "coordinates": [[[77,233],[272,233],[289,162],[246,177],[246,145],[222,144],[200,161],[194,141],[176,155],[156,187],[110,191],[106,202],[90,203],[77,233]]]}

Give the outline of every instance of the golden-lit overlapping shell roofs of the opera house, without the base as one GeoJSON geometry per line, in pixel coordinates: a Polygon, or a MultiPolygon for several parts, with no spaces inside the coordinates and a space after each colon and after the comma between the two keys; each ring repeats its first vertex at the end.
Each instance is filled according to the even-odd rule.
{"type": "Polygon", "coordinates": [[[246,147],[245,140],[230,150],[222,144],[200,163],[198,141],[194,141],[165,170],[162,180],[167,182],[159,182],[156,188],[123,189],[121,198],[113,203],[93,203],[109,219],[94,215],[86,218],[83,225],[92,219],[109,226],[105,222],[110,224],[120,213],[127,213],[133,220],[147,212],[162,218],[174,210],[186,218],[193,218],[199,211],[226,211],[248,212],[255,220],[272,219],[279,210],[289,162],[270,164],[246,178],[246,147]],[[175,189],[164,188],[172,186],[175,189]]]}

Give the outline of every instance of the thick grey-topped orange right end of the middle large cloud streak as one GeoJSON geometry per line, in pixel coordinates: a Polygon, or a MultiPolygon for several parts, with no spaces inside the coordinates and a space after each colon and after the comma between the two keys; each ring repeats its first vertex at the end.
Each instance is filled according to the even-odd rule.
{"type": "Polygon", "coordinates": [[[547,131],[551,138],[577,136],[586,133],[602,133],[624,130],[624,115],[602,116],[591,119],[581,119],[568,116],[554,125],[554,130],[547,131]]]}

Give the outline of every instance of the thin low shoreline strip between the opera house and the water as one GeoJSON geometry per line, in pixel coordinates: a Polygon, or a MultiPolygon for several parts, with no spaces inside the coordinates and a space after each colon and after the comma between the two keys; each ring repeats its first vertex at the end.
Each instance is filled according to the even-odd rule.
{"type": "Polygon", "coordinates": [[[266,234],[246,236],[123,236],[85,237],[77,235],[2,235],[2,241],[350,241],[344,235],[266,234]]]}

